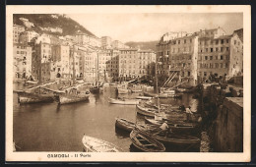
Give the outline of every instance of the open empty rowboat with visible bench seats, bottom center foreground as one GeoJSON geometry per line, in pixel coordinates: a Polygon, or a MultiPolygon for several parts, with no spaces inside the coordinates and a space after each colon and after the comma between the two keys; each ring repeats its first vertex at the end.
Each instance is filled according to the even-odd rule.
{"type": "Polygon", "coordinates": [[[139,129],[134,129],[130,134],[130,139],[132,140],[134,146],[145,151],[145,152],[163,152],[165,151],[164,145],[150,137],[146,133],[141,133],[139,129]]]}

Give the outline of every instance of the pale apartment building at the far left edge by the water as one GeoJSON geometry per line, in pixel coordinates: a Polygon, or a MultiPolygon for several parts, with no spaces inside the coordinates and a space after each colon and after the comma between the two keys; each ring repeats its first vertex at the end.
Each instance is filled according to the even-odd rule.
{"type": "Polygon", "coordinates": [[[13,45],[13,79],[27,79],[32,76],[32,47],[27,44],[13,45]]]}

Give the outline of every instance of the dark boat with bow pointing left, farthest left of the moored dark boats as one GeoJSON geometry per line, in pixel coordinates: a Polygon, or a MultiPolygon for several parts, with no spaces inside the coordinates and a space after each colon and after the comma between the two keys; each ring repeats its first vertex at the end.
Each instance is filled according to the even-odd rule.
{"type": "Polygon", "coordinates": [[[124,118],[115,118],[115,128],[118,128],[130,133],[135,127],[138,127],[139,129],[145,129],[145,130],[157,128],[157,126],[154,126],[154,125],[135,124],[134,122],[124,118]]]}

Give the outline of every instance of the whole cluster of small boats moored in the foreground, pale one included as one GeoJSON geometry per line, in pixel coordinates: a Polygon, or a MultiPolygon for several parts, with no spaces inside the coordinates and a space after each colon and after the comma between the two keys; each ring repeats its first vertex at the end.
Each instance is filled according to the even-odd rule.
{"type": "MultiPolygon", "coordinates": [[[[112,99],[113,104],[136,105],[137,114],[142,115],[145,124],[134,123],[124,118],[116,118],[116,130],[129,133],[132,145],[140,151],[162,152],[172,147],[181,148],[182,151],[200,149],[201,139],[193,136],[198,135],[200,119],[197,113],[191,115],[197,119],[188,120],[187,113],[180,106],[169,104],[156,105],[152,99],[112,99]],[[132,101],[131,101],[132,100],[132,101]],[[160,119],[159,119],[160,118],[160,119]],[[160,126],[166,123],[167,131],[161,131],[160,126]]],[[[193,118],[193,117],[190,117],[193,118]]],[[[113,143],[105,140],[84,136],[82,139],[85,151],[96,152],[123,152],[124,150],[113,143]]]]}

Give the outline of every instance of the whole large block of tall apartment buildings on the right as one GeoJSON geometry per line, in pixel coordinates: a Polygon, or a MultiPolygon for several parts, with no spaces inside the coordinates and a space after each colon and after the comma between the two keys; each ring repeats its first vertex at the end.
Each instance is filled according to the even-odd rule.
{"type": "Polygon", "coordinates": [[[175,72],[194,85],[198,76],[232,77],[242,72],[242,42],[235,33],[226,35],[223,28],[213,28],[167,40],[164,35],[157,45],[158,74],[175,72]]]}

